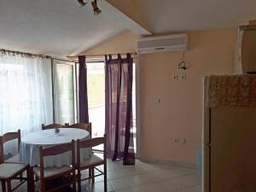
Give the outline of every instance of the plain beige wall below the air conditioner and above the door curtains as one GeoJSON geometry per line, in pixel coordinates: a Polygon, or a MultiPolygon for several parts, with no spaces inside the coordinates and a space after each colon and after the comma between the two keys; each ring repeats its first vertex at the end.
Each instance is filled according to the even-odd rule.
{"type": "MultiPolygon", "coordinates": [[[[119,53],[124,45],[134,52],[135,36],[129,40],[128,33],[87,54],[119,53]]],[[[143,158],[195,164],[196,152],[201,148],[202,78],[233,73],[235,44],[235,29],[189,32],[185,54],[189,68],[183,81],[172,80],[172,75],[178,74],[181,52],[139,56],[143,158]],[[174,137],[186,138],[186,144],[174,143],[174,137]]]]}

